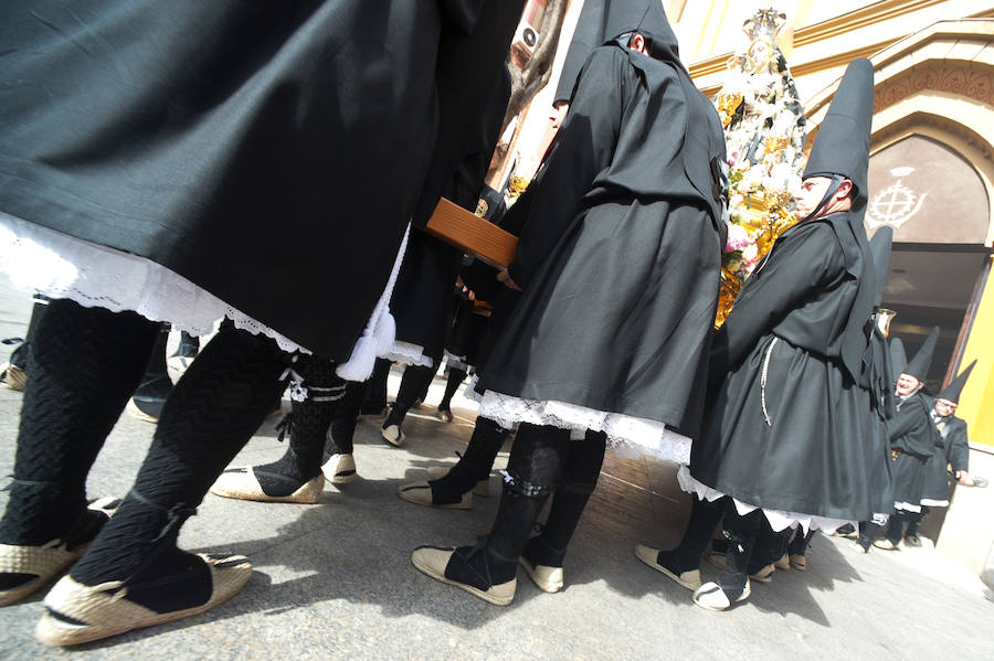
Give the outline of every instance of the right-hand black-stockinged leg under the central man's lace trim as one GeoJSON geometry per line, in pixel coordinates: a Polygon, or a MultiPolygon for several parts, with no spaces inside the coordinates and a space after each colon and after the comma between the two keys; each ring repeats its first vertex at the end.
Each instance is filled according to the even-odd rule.
{"type": "Polygon", "coordinates": [[[590,494],[598,486],[607,435],[588,430],[583,440],[569,446],[565,466],[542,534],[528,541],[525,555],[532,565],[561,567],[590,494]]]}

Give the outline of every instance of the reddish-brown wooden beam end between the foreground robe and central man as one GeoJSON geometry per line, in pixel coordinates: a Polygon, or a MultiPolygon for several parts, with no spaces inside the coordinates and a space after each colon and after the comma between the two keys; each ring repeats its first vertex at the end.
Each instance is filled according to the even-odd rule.
{"type": "Polygon", "coordinates": [[[438,206],[423,230],[497,268],[504,268],[515,259],[517,236],[445,198],[438,200],[438,206]]]}

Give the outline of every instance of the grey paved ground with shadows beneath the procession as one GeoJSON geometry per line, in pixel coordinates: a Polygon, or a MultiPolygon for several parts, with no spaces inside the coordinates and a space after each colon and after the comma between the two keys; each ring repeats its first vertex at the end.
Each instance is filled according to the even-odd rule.
{"type": "MultiPolygon", "coordinates": [[[[29,310],[28,297],[0,284],[0,338],[23,334],[29,310]]],[[[430,403],[441,387],[436,381],[430,403]]],[[[0,391],[0,475],[12,470],[20,405],[20,393],[0,391]]],[[[577,533],[564,591],[542,594],[521,573],[515,603],[498,608],[434,583],[411,566],[411,550],[473,542],[496,507],[489,498],[468,512],[434,511],[395,494],[463,449],[474,413],[465,399],[454,408],[452,425],[434,420],[431,407],[414,412],[401,449],[379,439],[376,420],[363,420],[356,449],[362,479],[340,491],[328,487],[321,504],[208,495],[181,543],[252,557],[256,572],[229,604],[64,651],[33,639],[36,597],[0,609],[0,658],[964,660],[990,659],[994,650],[991,594],[931,548],[861,556],[843,540],[819,536],[806,573],[778,572],[729,612],[697,608],[689,593],[632,555],[636,542],[674,544],[680,534],[687,500],[673,467],[622,449],[605,465],[577,533]]],[[[92,495],[127,491],[152,429],[121,417],[91,473],[92,495]]],[[[281,452],[269,423],[236,461],[281,452]]],[[[505,461],[501,454],[498,467],[505,461]]]]}

